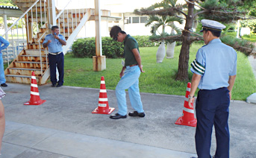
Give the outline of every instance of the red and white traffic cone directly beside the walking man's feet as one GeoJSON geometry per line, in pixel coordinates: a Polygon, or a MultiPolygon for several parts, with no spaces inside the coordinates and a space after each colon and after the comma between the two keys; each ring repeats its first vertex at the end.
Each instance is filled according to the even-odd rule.
{"type": "Polygon", "coordinates": [[[99,114],[110,114],[115,110],[113,107],[108,107],[107,101],[107,90],[105,86],[104,77],[102,76],[101,80],[101,88],[99,90],[99,104],[98,107],[93,110],[92,113],[99,113],[99,114]]]}

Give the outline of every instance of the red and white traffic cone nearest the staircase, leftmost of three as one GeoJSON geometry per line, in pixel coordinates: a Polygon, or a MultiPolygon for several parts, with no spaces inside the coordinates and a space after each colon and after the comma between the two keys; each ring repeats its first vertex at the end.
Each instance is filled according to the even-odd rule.
{"type": "Polygon", "coordinates": [[[37,79],[36,79],[36,76],[34,75],[34,72],[32,72],[30,101],[26,102],[24,105],[40,105],[40,104],[43,104],[44,102],[46,102],[46,100],[40,99],[40,95],[37,87],[37,79]]]}

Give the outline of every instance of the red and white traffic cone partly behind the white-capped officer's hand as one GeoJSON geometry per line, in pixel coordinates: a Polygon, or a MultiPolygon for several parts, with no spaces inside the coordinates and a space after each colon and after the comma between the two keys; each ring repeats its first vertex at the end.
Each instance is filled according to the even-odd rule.
{"type": "MultiPolygon", "coordinates": [[[[186,99],[184,101],[183,116],[178,118],[175,124],[196,127],[196,118],[194,116],[194,108],[190,108],[188,105],[188,95],[190,95],[191,83],[187,83],[186,99]]],[[[193,103],[192,103],[193,104],[193,103]]]]}

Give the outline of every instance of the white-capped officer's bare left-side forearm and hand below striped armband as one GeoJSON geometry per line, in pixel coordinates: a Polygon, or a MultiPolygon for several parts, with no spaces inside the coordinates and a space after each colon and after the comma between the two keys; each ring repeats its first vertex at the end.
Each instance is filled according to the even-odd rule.
{"type": "Polygon", "coordinates": [[[192,108],[192,103],[195,101],[195,98],[192,98],[195,95],[196,89],[199,86],[199,82],[201,80],[202,76],[198,75],[196,73],[193,74],[192,80],[191,80],[191,89],[190,89],[190,98],[188,100],[188,105],[190,108],[192,108]]]}

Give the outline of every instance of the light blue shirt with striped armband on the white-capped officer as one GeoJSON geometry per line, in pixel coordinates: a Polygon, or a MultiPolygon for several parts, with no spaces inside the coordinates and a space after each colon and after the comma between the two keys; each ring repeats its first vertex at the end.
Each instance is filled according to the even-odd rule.
{"type": "Polygon", "coordinates": [[[202,75],[199,89],[228,87],[229,76],[237,75],[237,52],[220,39],[199,48],[191,72],[202,75]]]}

